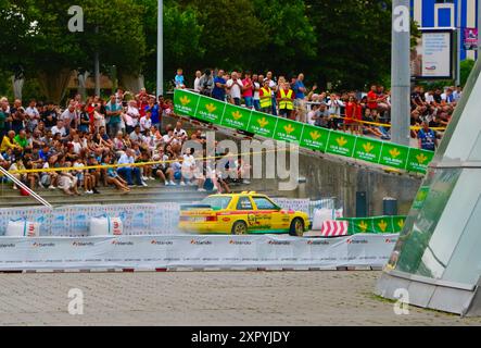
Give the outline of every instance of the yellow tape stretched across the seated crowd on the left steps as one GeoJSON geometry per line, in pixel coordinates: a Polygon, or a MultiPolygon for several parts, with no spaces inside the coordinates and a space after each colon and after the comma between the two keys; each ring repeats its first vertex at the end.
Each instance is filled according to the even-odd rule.
{"type": "MultiPolygon", "coordinates": [[[[276,149],[276,150],[266,150],[263,152],[244,152],[244,153],[232,153],[232,157],[239,157],[239,156],[245,156],[245,154],[263,154],[263,153],[270,153],[270,152],[279,152],[279,151],[288,151],[288,149],[276,149]]],[[[228,158],[229,156],[227,156],[228,158]]],[[[204,160],[216,160],[216,159],[223,159],[226,158],[226,156],[210,156],[210,157],[202,157],[202,158],[195,158],[197,161],[204,161],[204,160]]],[[[46,167],[46,169],[35,169],[35,170],[17,170],[17,171],[9,171],[10,174],[28,174],[28,173],[50,173],[50,172],[68,172],[68,171],[87,171],[87,170],[106,170],[110,167],[124,167],[124,166],[144,166],[144,165],[155,165],[155,164],[162,164],[162,163],[174,163],[177,160],[167,160],[167,161],[151,161],[151,162],[140,162],[140,163],[125,163],[125,164],[105,164],[105,165],[86,165],[86,166],[65,166],[65,167],[46,167]]],[[[0,174],[1,176],[1,174],[0,174]]]]}

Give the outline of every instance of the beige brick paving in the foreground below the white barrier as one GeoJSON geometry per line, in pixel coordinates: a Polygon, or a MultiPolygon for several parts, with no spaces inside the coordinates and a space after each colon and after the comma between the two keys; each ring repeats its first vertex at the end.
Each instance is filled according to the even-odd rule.
{"type": "Polygon", "coordinates": [[[376,298],[380,272],[0,274],[1,325],[480,325],[376,298]],[[67,312],[71,288],[84,314],[67,312]]]}

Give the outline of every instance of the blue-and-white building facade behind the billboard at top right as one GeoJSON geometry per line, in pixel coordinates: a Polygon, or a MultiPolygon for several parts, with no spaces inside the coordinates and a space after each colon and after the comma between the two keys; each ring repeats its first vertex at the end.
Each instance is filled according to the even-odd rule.
{"type": "MultiPolygon", "coordinates": [[[[481,0],[410,0],[410,11],[419,27],[456,27],[463,33],[465,28],[478,27],[480,3],[481,0]],[[458,21],[459,15],[460,21],[458,21]]],[[[463,40],[459,45],[461,60],[477,58],[476,50],[466,50],[463,40]]]]}

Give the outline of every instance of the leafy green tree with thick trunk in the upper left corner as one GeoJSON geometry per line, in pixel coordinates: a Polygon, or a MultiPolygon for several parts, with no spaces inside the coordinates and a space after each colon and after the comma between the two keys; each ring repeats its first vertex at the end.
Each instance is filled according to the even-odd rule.
{"type": "MultiPolygon", "coordinates": [[[[14,25],[1,41],[12,41],[13,53],[2,58],[2,66],[22,64],[26,78],[39,77],[45,94],[59,102],[71,72],[92,70],[93,52],[99,51],[103,66],[117,65],[129,72],[140,71],[145,51],[141,8],[131,0],[84,0],[85,32],[68,30],[72,3],[63,0],[3,1],[14,25]],[[96,33],[99,27],[99,33],[96,33]],[[12,32],[12,33],[11,33],[12,32]]],[[[1,23],[2,21],[0,21],[1,23]]],[[[9,47],[9,46],[7,46],[9,47]]]]}

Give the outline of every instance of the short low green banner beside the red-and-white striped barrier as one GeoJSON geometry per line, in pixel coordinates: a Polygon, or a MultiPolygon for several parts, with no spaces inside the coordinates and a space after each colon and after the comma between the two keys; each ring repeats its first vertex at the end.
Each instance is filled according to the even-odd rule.
{"type": "Polygon", "coordinates": [[[357,233],[400,233],[406,216],[343,217],[339,221],[349,222],[349,234],[357,233]]]}

